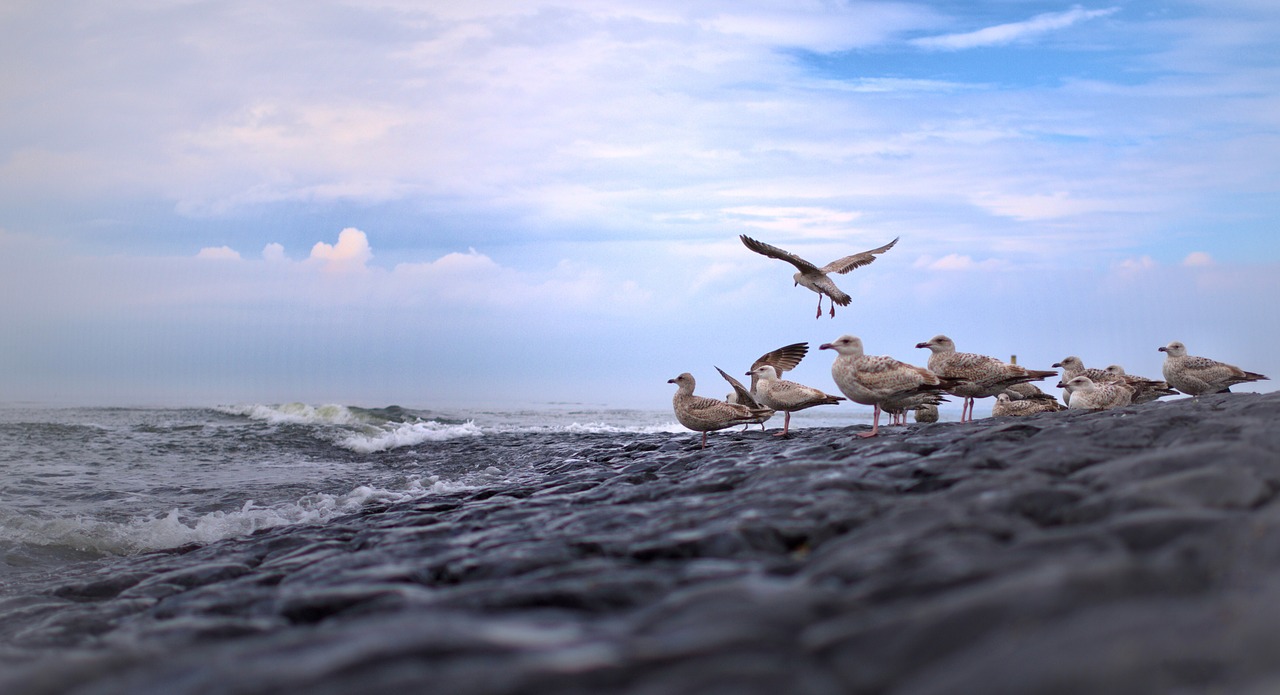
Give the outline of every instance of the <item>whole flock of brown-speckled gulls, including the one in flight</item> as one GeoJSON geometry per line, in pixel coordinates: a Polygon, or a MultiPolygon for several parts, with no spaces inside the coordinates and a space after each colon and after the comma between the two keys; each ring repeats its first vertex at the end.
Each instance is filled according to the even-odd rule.
{"type": "MultiPolygon", "coordinates": [[[[841,292],[831,280],[831,273],[849,273],[870,264],[897,243],[895,238],[879,248],[845,256],[819,268],[776,246],[746,236],[740,238],[751,251],[796,268],[795,284],[818,293],[819,319],[823,297],[831,300],[832,317],[836,316],[836,305],[850,303],[849,294],[841,292]]],[[[1235,384],[1267,379],[1234,365],[1187,355],[1187,347],[1174,340],[1158,348],[1165,353],[1162,380],[1126,374],[1119,365],[1111,365],[1105,370],[1089,369],[1075,356],[1055,362],[1053,367],[1062,370],[1057,387],[1064,389],[1064,402],[1059,403],[1052,394],[1032,384],[1057,376],[1057,371],[1033,370],[986,355],[956,352],[955,342],[946,335],[934,335],[915,347],[929,349],[927,367],[909,365],[888,356],[867,355],[861,339],[855,335],[841,335],[819,346],[819,349],[831,349],[836,353],[831,365],[831,378],[844,394],[840,397],[782,379],[782,374],[795,369],[809,351],[808,343],[792,343],[767,352],[753,362],[751,369],[746,371],[746,376],[751,378],[749,387],[716,367],[733,389],[724,401],[695,395],[696,384],[689,372],[669,379],[668,383],[676,384],[672,407],[681,425],[703,433],[701,445],[705,448],[707,433],[753,424],[763,429],[764,422],[776,412],[785,413],[782,430],[776,433],[777,436],[783,436],[791,429],[792,412],[815,406],[833,406],[846,399],[874,408],[870,431],[858,433],[858,436],[876,436],[879,434],[882,411],[892,416],[895,425],[906,422],[908,411],[915,412],[918,422],[933,422],[938,419],[937,406],[946,402],[948,394],[964,399],[960,421],[965,422],[973,420],[973,404],[978,398],[996,398],[996,404],[992,407],[993,417],[1068,408],[1102,411],[1148,403],[1179,392],[1188,395],[1222,393],[1235,384]]]]}

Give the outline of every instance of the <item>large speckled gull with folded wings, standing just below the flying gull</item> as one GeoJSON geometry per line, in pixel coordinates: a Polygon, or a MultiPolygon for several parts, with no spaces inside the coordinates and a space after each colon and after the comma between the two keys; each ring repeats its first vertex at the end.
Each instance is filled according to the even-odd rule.
{"type": "MultiPolygon", "coordinates": [[[[890,407],[906,407],[900,403],[910,402],[915,397],[931,395],[931,392],[946,390],[956,385],[955,379],[943,379],[924,367],[908,365],[887,356],[870,356],[863,352],[863,340],[855,335],[841,335],[840,338],[818,346],[818,349],[836,351],[836,361],[831,365],[831,378],[854,403],[874,406],[872,416],[872,431],[858,433],[858,436],[876,436],[879,434],[881,410],[890,407]]],[[[928,399],[922,399],[924,404],[928,399]]],[[[936,404],[936,403],[934,403],[936,404]]],[[[913,406],[914,407],[914,406],[913,406]]]]}

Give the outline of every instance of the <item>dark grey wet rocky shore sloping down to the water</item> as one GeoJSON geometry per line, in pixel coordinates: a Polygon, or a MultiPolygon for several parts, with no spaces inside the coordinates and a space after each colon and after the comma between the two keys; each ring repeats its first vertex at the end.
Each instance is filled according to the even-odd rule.
{"type": "Polygon", "coordinates": [[[1280,393],[860,430],[433,444],[530,472],[0,596],[0,692],[1280,691],[1280,393]]]}

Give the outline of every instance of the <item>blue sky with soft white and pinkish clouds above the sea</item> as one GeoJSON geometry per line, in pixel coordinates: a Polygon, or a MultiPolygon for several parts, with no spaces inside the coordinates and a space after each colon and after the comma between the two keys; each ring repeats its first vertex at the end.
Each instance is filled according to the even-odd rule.
{"type": "Polygon", "coordinates": [[[10,0],[0,403],[657,410],[801,340],[835,392],[842,334],[1280,378],[1277,35],[1272,0],[10,0]],[[739,234],[900,242],[814,319],[739,234]]]}

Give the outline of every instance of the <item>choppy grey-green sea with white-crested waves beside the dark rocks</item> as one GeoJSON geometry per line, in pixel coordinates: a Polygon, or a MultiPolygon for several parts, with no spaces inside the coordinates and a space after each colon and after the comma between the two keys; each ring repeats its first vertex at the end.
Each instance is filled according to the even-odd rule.
{"type": "MultiPolygon", "coordinates": [[[[870,408],[844,404],[795,413],[791,426],[869,422],[870,408]]],[[[781,415],[769,421],[781,425],[781,415]]],[[[511,433],[699,436],[669,408],[0,406],[0,595],[72,563],[325,523],[366,504],[538,475],[468,456],[511,433]]]]}

